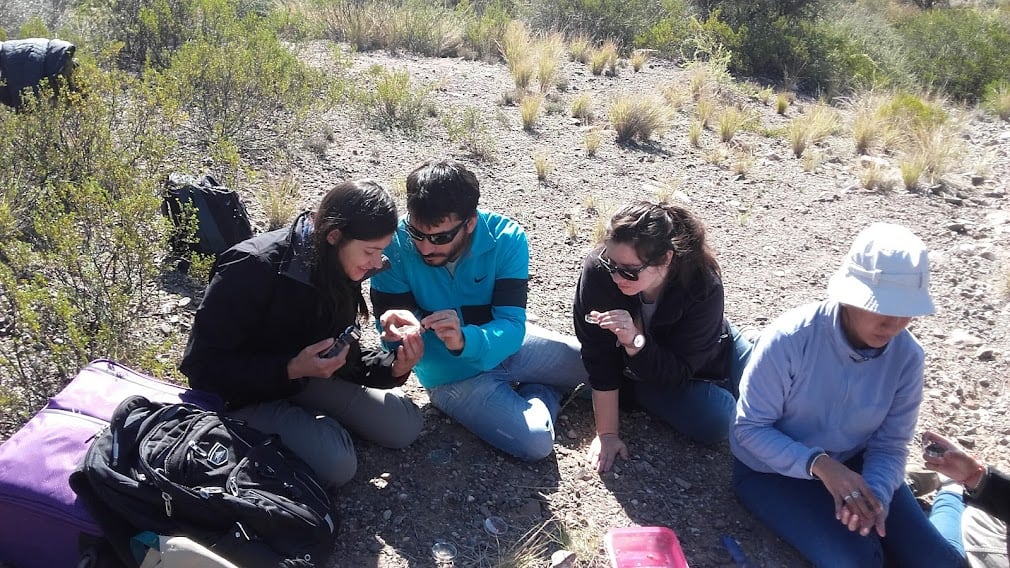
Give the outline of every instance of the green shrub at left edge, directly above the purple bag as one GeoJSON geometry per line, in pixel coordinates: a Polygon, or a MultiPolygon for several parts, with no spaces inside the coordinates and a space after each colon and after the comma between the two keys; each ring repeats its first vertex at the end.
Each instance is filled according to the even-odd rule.
{"type": "Polygon", "coordinates": [[[17,393],[4,413],[30,415],[97,357],[149,365],[139,324],[156,303],[167,227],[154,181],[137,182],[119,195],[94,180],[61,185],[33,209],[30,240],[0,245],[0,310],[13,322],[0,390],[17,393]]]}

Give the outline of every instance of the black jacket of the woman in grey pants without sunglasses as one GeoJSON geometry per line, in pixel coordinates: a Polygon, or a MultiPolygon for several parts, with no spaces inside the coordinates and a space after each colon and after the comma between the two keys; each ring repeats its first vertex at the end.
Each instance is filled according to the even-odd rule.
{"type": "MultiPolygon", "coordinates": [[[[306,347],[336,337],[355,313],[327,317],[310,282],[304,221],[243,241],[221,254],[196,312],[179,366],[194,388],[235,408],[286,398],[307,379],[288,379],[288,362],[306,347]]],[[[352,345],[335,376],[379,388],[395,386],[394,356],[352,345]]]]}

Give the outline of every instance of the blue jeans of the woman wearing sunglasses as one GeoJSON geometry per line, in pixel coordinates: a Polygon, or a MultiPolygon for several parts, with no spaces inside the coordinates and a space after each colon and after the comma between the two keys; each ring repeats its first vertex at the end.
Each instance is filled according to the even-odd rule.
{"type": "Polygon", "coordinates": [[[726,380],[690,380],[677,387],[635,383],[635,402],[695,442],[716,444],[725,440],[736,412],[740,377],[753,349],[753,345],[732,325],[730,333],[733,350],[726,380]]]}

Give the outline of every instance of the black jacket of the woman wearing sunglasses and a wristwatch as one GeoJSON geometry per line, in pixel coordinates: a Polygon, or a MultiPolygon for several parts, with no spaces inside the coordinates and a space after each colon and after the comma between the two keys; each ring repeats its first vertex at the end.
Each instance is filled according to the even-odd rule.
{"type": "Polygon", "coordinates": [[[711,274],[696,279],[687,290],[671,280],[645,329],[645,347],[628,357],[611,332],[585,320],[590,311],[611,309],[625,309],[641,318],[638,297],[621,293],[597,261],[601,250],[593,251],[583,262],[574,309],[582,361],[592,387],[614,390],[634,381],[679,386],[690,379],[725,379],[733,342],[723,316],[722,281],[711,274]]]}

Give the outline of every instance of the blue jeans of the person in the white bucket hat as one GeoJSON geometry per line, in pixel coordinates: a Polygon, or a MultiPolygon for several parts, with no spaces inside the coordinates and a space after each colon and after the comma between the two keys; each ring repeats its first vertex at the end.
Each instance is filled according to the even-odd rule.
{"type": "MultiPolygon", "coordinates": [[[[862,457],[845,465],[862,471],[862,457]]],[[[964,566],[957,550],[929,524],[904,483],[891,498],[886,537],[863,537],[834,517],[834,500],[816,479],[761,473],[733,460],[733,490],[740,503],[814,566],[964,566]]]]}

